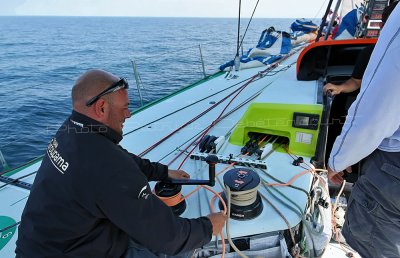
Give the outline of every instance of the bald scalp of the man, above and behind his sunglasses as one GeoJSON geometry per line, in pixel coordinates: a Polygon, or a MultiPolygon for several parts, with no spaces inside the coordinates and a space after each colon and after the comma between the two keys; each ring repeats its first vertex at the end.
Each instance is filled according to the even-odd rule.
{"type": "Polygon", "coordinates": [[[82,74],[72,88],[72,106],[76,111],[86,108],[86,101],[105,90],[119,78],[103,70],[89,70],[82,74]]]}

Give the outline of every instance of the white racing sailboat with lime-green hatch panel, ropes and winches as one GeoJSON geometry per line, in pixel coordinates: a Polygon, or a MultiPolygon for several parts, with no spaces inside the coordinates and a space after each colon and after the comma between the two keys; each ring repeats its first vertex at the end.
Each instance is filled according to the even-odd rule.
{"type": "MultiPolygon", "coordinates": [[[[366,10],[371,14],[380,3],[369,1],[366,10]]],[[[332,100],[322,89],[350,77],[377,30],[364,27],[367,36],[352,40],[323,40],[318,33],[283,52],[259,48],[258,54],[271,50],[262,64],[237,58],[226,71],[132,113],[120,144],[191,175],[151,184],[154,194],[168,199],[177,216],[228,214],[222,234],[195,257],[347,257],[340,237],[332,240],[346,206],[343,188],[330,188],[325,162],[336,137],[328,128],[346,112],[338,101],[353,96],[332,100]]],[[[283,40],[280,33],[276,42],[283,40]]],[[[0,174],[0,257],[14,256],[41,160],[0,174]]]]}

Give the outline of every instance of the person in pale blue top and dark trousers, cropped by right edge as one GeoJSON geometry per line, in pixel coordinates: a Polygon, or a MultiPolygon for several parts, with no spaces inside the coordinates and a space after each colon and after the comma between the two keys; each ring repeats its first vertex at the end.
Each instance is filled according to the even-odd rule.
{"type": "Polygon", "coordinates": [[[366,158],[346,213],[343,236],[363,257],[400,257],[400,7],[372,53],[361,91],[333,146],[328,177],[366,158]]]}

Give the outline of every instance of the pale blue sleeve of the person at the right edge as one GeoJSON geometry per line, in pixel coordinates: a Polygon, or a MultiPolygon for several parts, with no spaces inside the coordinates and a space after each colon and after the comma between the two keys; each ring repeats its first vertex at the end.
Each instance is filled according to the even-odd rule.
{"type": "MultiPolygon", "coordinates": [[[[399,7],[397,11],[400,13],[399,7]]],[[[362,79],[361,91],[336,138],[329,158],[329,167],[336,172],[371,154],[400,129],[400,34],[395,33],[400,31],[398,22],[383,28],[362,79]]]]}

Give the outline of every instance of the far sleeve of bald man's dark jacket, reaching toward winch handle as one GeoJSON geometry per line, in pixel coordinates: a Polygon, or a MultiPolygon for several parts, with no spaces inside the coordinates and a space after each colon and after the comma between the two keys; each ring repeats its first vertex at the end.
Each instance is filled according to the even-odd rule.
{"type": "Polygon", "coordinates": [[[135,154],[130,153],[120,146],[120,148],[129,154],[131,158],[136,162],[142,173],[147,177],[149,181],[161,181],[168,177],[168,166],[158,162],[151,162],[148,159],[142,159],[135,154]]]}

